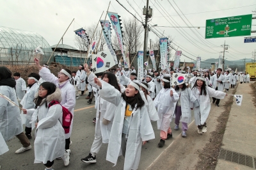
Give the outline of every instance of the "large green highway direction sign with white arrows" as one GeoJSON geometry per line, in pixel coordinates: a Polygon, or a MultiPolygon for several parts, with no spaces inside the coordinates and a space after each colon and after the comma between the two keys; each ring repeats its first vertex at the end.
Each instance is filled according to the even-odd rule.
{"type": "Polygon", "coordinates": [[[205,39],[251,35],[252,14],[206,20],[205,39]]]}

